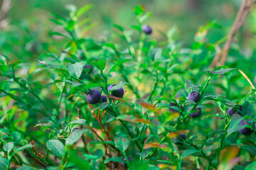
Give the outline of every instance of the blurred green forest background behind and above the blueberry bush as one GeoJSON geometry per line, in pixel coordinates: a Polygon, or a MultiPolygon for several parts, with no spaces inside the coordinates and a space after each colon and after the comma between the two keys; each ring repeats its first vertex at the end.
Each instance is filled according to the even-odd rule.
{"type": "MultiPolygon", "coordinates": [[[[184,47],[191,47],[199,26],[215,21],[223,28],[211,29],[208,42],[216,42],[228,35],[241,3],[242,0],[0,0],[0,52],[11,60],[29,59],[63,47],[49,35],[55,24],[48,18],[52,18],[50,12],[68,16],[70,8],[74,8],[70,4],[77,8],[93,4],[94,7],[86,13],[93,22],[93,28],[85,32],[87,37],[97,39],[114,32],[113,23],[132,30],[130,26],[137,23],[132,9],[143,4],[146,11],[152,13],[146,24],[154,28],[152,36],[156,41],[164,38],[159,31],[166,33],[176,27],[174,38],[184,47]]],[[[255,50],[255,28],[254,7],[235,40],[240,47],[255,50]]]]}

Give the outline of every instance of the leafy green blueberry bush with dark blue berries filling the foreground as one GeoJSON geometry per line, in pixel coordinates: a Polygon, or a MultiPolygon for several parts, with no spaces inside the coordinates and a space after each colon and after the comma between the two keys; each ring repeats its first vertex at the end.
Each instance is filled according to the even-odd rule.
{"type": "Polygon", "coordinates": [[[0,169],[255,169],[253,68],[209,67],[225,38],[208,32],[222,26],[187,48],[137,5],[137,23],[99,40],[82,34],[91,7],[51,13],[55,52],[0,54],[0,169]]]}

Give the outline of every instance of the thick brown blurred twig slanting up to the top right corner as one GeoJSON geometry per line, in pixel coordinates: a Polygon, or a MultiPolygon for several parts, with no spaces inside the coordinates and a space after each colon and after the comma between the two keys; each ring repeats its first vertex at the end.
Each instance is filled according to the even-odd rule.
{"type": "Polygon", "coordinates": [[[238,15],[236,16],[233,26],[228,35],[228,40],[225,42],[222,52],[218,53],[218,55],[215,55],[213,62],[210,64],[211,68],[225,64],[228,51],[230,49],[231,43],[233,42],[235,34],[238,33],[238,30],[242,27],[242,24],[245,22],[245,18],[247,17],[250,8],[255,3],[255,1],[256,0],[244,0],[242,2],[242,5],[240,6],[240,9],[238,11],[238,15]]]}

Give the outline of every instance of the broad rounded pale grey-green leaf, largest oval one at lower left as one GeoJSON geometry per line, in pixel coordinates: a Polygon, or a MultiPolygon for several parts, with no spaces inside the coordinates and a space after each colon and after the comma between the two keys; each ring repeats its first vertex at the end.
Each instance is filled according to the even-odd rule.
{"type": "Polygon", "coordinates": [[[47,148],[53,152],[57,157],[63,157],[65,148],[62,142],[59,140],[48,140],[46,143],[47,148]]]}

